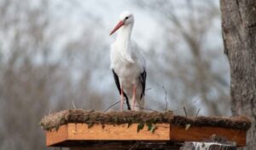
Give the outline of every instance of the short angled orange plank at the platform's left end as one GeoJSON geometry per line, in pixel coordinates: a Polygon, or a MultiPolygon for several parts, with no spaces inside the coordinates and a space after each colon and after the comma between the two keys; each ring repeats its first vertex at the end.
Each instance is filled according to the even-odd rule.
{"type": "Polygon", "coordinates": [[[61,125],[59,130],[50,130],[46,132],[46,146],[52,146],[67,141],[67,125],[61,125]]]}

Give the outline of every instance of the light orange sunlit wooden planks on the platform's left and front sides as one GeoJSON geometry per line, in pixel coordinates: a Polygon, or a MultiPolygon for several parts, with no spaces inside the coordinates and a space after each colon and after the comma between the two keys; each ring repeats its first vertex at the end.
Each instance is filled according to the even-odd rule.
{"type": "Polygon", "coordinates": [[[170,124],[156,124],[154,133],[148,131],[145,126],[137,133],[137,125],[131,124],[94,124],[88,128],[87,124],[61,125],[59,130],[46,133],[46,145],[54,146],[61,141],[168,141],[170,136],[170,124]]]}

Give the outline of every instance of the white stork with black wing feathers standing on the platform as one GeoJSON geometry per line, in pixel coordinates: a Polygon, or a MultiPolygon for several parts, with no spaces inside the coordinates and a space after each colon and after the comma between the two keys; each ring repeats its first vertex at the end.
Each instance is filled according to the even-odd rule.
{"type": "Polygon", "coordinates": [[[119,89],[120,109],[123,111],[124,99],[128,109],[142,110],[146,86],[146,61],[143,53],[131,43],[131,31],[134,17],[129,11],[119,16],[119,23],[110,32],[118,31],[116,40],[111,44],[110,68],[115,84],[119,89]],[[130,106],[131,104],[131,106],[130,106]]]}

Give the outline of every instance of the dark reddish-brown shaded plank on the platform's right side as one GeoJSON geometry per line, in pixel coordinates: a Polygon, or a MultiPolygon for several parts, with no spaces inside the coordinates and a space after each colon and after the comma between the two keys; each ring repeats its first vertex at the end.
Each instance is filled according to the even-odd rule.
{"type": "Polygon", "coordinates": [[[171,141],[207,141],[212,135],[224,136],[228,141],[235,141],[238,147],[246,145],[246,131],[218,127],[191,126],[188,130],[183,126],[171,124],[171,141]]]}

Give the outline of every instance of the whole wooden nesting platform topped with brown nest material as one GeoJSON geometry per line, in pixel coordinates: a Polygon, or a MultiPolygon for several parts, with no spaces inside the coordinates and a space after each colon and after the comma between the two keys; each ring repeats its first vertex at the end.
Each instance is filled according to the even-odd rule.
{"type": "Polygon", "coordinates": [[[244,116],[187,118],[172,111],[101,113],[71,109],[49,114],[41,125],[48,147],[143,149],[149,145],[175,149],[184,141],[218,141],[243,147],[251,122],[244,116]]]}

